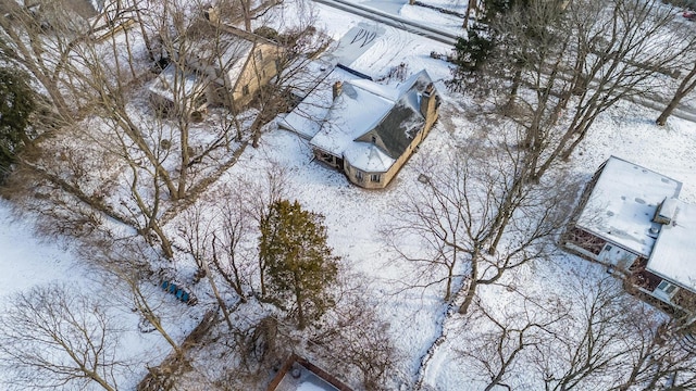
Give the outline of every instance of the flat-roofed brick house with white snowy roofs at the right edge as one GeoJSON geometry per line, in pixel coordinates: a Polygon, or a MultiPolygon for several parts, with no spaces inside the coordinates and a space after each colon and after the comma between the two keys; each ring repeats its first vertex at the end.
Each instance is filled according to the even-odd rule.
{"type": "Polygon", "coordinates": [[[681,310],[696,305],[696,205],[682,184],[609,157],[587,185],[564,245],[611,268],[681,310]]]}

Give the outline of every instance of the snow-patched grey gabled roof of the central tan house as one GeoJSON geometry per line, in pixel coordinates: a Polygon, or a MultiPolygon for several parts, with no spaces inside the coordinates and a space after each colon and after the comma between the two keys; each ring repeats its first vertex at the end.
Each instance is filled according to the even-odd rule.
{"type": "Polygon", "coordinates": [[[365,79],[344,83],[343,92],[310,143],[345,156],[359,169],[386,172],[423,128],[421,93],[431,83],[425,71],[396,87],[365,79]]]}

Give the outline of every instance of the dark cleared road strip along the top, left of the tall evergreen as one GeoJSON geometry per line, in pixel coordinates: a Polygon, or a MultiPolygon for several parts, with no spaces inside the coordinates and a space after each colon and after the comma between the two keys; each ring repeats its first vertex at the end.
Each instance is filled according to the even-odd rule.
{"type": "Polygon", "coordinates": [[[402,17],[375,10],[369,7],[353,4],[345,0],[314,0],[314,2],[333,7],[335,9],[349,12],[351,14],[366,17],[369,20],[380,22],[387,26],[396,27],[409,33],[413,33],[438,42],[455,46],[457,36],[447,31],[439,30],[420,23],[411,22],[402,17]]]}

